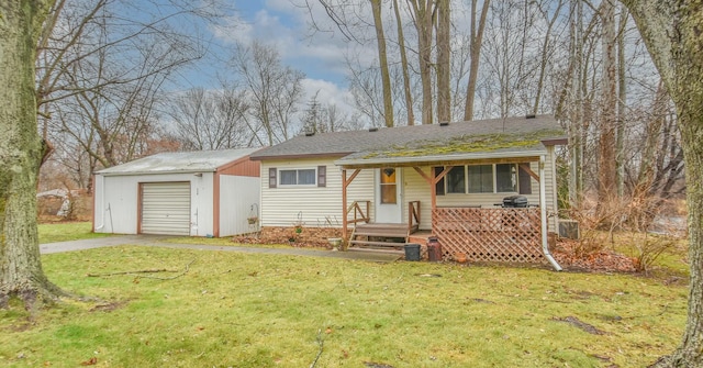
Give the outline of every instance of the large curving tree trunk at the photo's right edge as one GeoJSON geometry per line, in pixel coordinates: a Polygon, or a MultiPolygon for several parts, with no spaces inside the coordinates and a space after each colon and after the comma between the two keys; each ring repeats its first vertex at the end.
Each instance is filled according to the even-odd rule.
{"type": "Polygon", "coordinates": [[[703,47],[700,1],[625,0],[676,105],[689,210],[689,312],[677,350],[655,367],[703,366],[703,47]]]}

